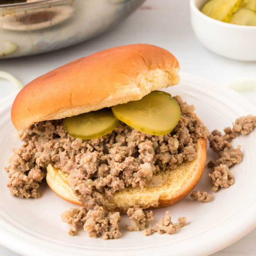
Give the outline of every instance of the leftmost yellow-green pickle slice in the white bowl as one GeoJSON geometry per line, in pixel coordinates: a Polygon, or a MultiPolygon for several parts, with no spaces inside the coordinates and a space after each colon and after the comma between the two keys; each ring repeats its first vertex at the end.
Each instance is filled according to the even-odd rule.
{"type": "Polygon", "coordinates": [[[238,10],[241,0],[211,0],[202,8],[203,14],[227,22],[238,10]]]}

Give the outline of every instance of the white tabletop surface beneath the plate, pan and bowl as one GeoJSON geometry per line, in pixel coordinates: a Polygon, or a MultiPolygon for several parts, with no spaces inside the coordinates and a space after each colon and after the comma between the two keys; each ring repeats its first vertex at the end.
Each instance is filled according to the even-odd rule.
{"type": "MultiPolygon", "coordinates": [[[[0,60],[0,70],[16,76],[24,84],[60,65],[113,46],[149,43],[170,50],[180,62],[181,71],[213,80],[226,86],[249,78],[256,84],[256,62],[236,62],[206,50],[196,39],[190,24],[189,0],[147,0],[118,27],[100,37],[56,52],[0,60]]],[[[0,80],[0,98],[14,90],[0,80]]],[[[243,93],[255,101],[252,92],[243,93]]],[[[256,255],[256,229],[213,256],[256,255]]],[[[0,246],[0,256],[18,256],[0,246]]]]}

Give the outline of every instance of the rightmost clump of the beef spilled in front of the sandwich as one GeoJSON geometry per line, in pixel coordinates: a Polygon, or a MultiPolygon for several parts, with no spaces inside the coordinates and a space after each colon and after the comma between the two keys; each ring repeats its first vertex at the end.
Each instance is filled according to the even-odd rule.
{"type": "Polygon", "coordinates": [[[154,228],[148,228],[143,231],[145,236],[151,235],[154,232],[158,234],[168,233],[169,235],[176,233],[177,230],[182,228],[187,222],[186,217],[178,218],[178,222],[172,223],[169,211],[166,212],[165,217],[163,217],[158,223],[155,224],[154,228]]]}

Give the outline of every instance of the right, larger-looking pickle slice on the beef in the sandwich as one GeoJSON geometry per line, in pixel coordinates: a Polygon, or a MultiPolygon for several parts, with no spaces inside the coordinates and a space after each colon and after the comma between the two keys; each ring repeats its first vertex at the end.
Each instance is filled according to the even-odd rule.
{"type": "Polygon", "coordinates": [[[141,100],[113,106],[112,111],[122,122],[152,135],[171,132],[181,114],[177,101],[162,91],[153,91],[141,100]]]}

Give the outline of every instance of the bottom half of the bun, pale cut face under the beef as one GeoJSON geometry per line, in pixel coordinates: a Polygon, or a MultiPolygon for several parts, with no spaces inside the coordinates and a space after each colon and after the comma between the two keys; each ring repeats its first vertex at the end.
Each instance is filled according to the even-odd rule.
{"type": "MultiPolygon", "coordinates": [[[[187,196],[200,180],[206,164],[206,139],[200,138],[197,142],[198,158],[191,162],[182,162],[173,171],[160,171],[166,178],[161,187],[128,187],[117,191],[112,201],[108,202],[108,210],[126,212],[129,207],[139,204],[140,207],[160,208],[170,206],[187,196]]],[[[69,175],[61,170],[47,167],[47,183],[49,187],[66,201],[83,206],[69,186],[69,175]]]]}

